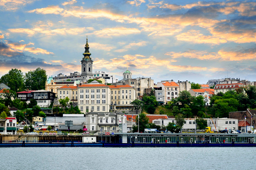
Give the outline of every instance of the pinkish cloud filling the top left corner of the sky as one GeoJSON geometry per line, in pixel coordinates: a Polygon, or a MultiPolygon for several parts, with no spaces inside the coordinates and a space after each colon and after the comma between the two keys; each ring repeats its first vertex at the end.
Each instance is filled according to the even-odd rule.
{"type": "Polygon", "coordinates": [[[0,1],[0,11],[16,11],[22,6],[31,4],[37,0],[4,0],[0,1]]]}

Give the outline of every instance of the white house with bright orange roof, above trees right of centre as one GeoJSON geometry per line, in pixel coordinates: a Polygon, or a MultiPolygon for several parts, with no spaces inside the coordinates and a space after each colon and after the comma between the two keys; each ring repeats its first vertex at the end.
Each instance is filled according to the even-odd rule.
{"type": "Polygon", "coordinates": [[[179,96],[179,85],[174,81],[158,82],[157,87],[161,87],[164,90],[164,104],[168,104],[173,98],[179,96]]]}

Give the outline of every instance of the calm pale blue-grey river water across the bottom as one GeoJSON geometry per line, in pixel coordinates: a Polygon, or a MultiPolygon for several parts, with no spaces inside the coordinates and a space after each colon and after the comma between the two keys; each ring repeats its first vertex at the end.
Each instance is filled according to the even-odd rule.
{"type": "Polygon", "coordinates": [[[255,169],[255,148],[0,148],[0,169],[255,169]]]}

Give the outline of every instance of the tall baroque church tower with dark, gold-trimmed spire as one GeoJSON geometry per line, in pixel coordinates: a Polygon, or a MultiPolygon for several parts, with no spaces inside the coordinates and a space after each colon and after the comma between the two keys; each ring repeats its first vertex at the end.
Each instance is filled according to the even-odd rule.
{"type": "Polygon", "coordinates": [[[81,60],[81,80],[87,81],[89,79],[93,79],[93,72],[92,72],[92,58],[91,53],[89,52],[89,44],[88,39],[86,38],[86,44],[85,44],[85,51],[84,51],[84,57],[83,60],[81,60]]]}

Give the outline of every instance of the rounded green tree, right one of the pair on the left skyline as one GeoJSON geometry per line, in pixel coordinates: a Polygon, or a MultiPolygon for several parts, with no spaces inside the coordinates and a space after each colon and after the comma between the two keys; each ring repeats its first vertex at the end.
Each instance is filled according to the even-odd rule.
{"type": "Polygon", "coordinates": [[[46,80],[46,71],[38,67],[36,70],[26,73],[25,86],[31,90],[42,90],[45,89],[46,80]]]}

